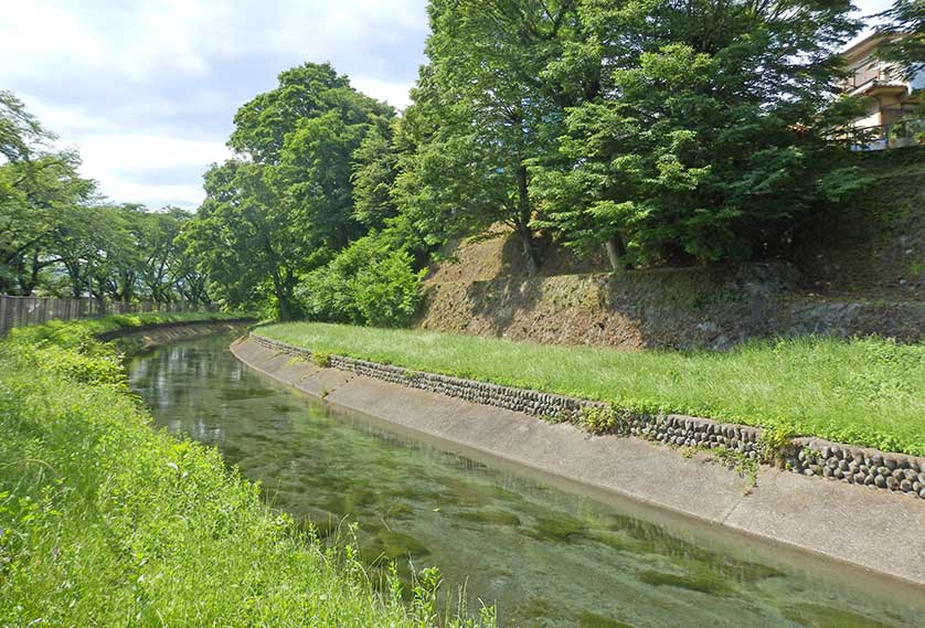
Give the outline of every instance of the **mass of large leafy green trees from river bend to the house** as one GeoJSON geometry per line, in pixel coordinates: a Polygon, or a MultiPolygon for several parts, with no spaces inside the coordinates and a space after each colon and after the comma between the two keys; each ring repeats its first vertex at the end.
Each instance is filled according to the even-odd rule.
{"type": "MultiPolygon", "coordinates": [[[[838,88],[852,9],[432,0],[401,115],[313,63],[238,109],[235,157],[205,173],[171,277],[283,318],[402,324],[433,254],[497,223],[531,273],[541,240],[606,249],[615,269],[762,255],[864,183],[844,159],[863,104],[838,88]]],[[[883,54],[908,72],[923,12],[897,0],[879,19],[906,34],[883,54]]]]}

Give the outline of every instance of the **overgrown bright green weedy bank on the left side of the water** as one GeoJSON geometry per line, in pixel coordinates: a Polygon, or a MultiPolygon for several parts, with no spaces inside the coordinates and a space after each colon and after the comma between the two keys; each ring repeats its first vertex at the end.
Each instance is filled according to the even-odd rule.
{"type": "Polygon", "coordinates": [[[437,625],[433,574],[411,605],[369,582],[349,544],[322,547],[216,450],[152,429],[119,356],[93,339],[190,319],[0,340],[0,626],[437,625]]]}

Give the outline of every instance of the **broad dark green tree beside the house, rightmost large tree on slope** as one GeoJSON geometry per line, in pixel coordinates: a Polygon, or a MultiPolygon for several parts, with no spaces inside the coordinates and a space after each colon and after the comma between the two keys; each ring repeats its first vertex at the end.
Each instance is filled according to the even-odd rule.
{"type": "Polygon", "coordinates": [[[850,2],[588,0],[600,96],[570,110],[546,226],[578,248],[744,257],[818,198],[850,2]],[[805,125],[808,134],[795,129],[805,125]]]}

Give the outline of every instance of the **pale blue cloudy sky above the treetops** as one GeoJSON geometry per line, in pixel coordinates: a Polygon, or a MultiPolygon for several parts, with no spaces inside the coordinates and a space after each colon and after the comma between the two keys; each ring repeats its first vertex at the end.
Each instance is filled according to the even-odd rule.
{"type": "MultiPolygon", "coordinates": [[[[855,0],[862,13],[890,0],[855,0]]],[[[424,63],[426,0],[12,0],[0,89],[119,203],[195,210],[231,156],[234,113],[283,70],[329,61],[403,108],[424,63]]]]}

